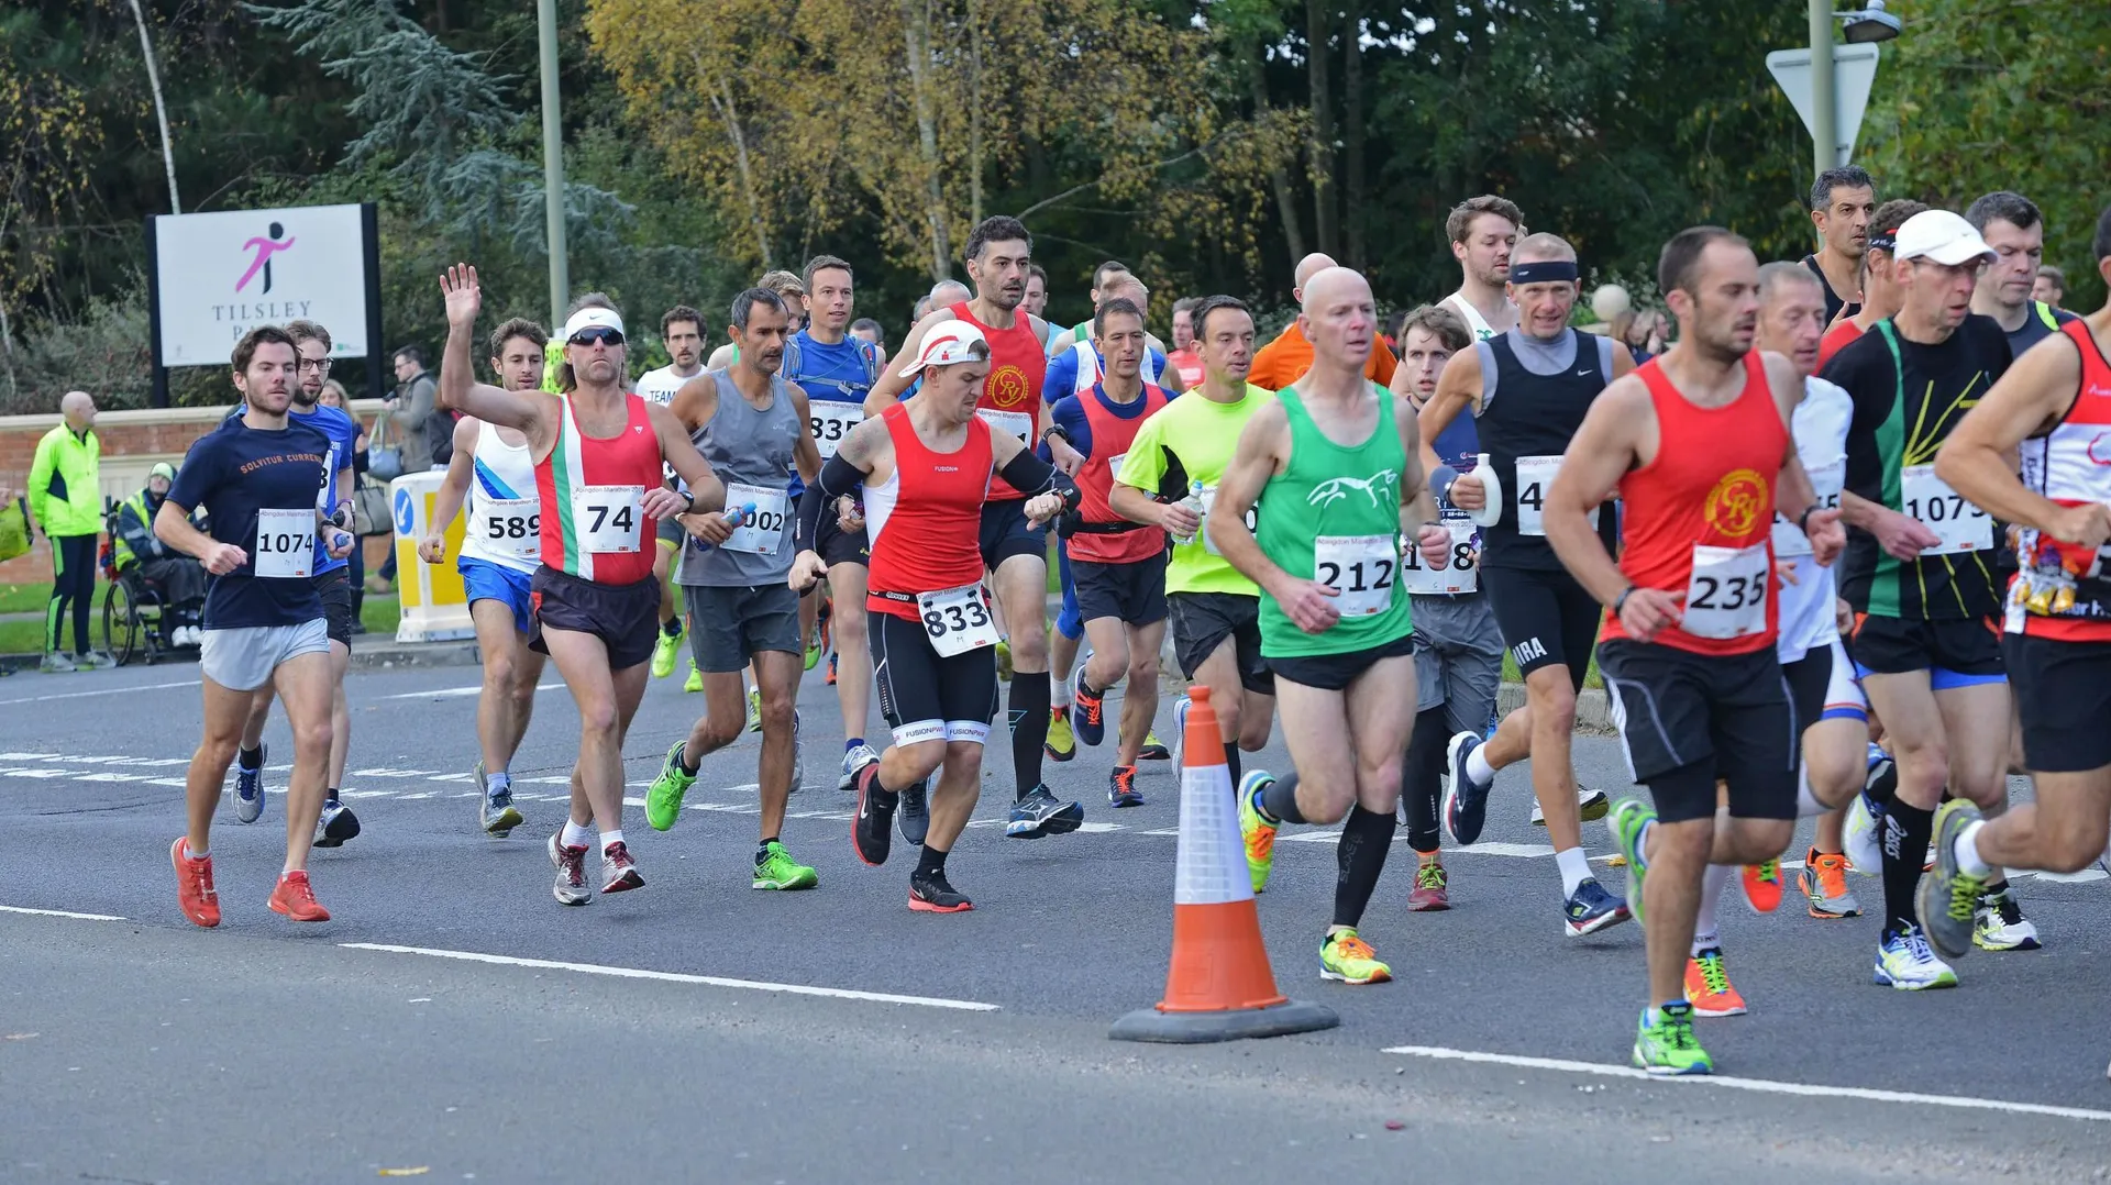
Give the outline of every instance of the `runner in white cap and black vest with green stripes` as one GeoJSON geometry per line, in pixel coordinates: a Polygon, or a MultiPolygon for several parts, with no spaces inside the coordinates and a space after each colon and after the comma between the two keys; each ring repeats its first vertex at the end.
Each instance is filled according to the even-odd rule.
{"type": "MultiPolygon", "coordinates": [[[[1841,494],[1853,528],[1841,564],[1841,596],[1856,610],[1849,651],[1898,771],[1896,788],[1872,782],[1856,798],[1847,843],[1853,851],[1858,832],[1879,828],[1885,915],[1875,978],[1904,991],[1957,986],[1913,913],[1944,790],[1989,813],[2008,801],[1995,524],[1934,471],[1957,420],[2010,365],[2001,325],[1972,313],[1972,289],[1993,256],[1946,209],[1906,220],[1891,262],[1904,306],[1824,370],[1853,399],[1841,494]]],[[[1976,940],[2037,946],[1999,877],[1980,900],[1976,940]]]]}

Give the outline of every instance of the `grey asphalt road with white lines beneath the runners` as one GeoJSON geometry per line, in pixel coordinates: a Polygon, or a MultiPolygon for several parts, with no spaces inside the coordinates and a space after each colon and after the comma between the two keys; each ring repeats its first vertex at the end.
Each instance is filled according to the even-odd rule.
{"type": "MultiPolygon", "coordinates": [[[[1009,750],[992,750],[950,864],[977,908],[912,915],[901,849],[880,870],[851,853],[836,699],[815,672],[785,841],[819,889],[747,887],[747,737],[707,758],[676,830],[631,811],[642,891],[564,908],[543,853],[576,752],[564,689],[547,680],[515,763],[530,826],[494,843],[467,786],[477,672],[355,672],[346,798],[367,830],[312,864],[336,919],[264,908],[274,796],[260,826],[224,811],[226,921],[205,934],[167,864],[194,680],[0,680],[0,851],[21,870],[0,889],[0,1181],[1518,1181],[1554,1158],[1625,1181],[2111,1179],[2103,874],[2018,879],[2046,951],[1976,953],[1959,991],[1921,995],[1870,986],[1872,917],[1820,923],[1794,896],[1756,917],[1733,891],[1723,934],[1752,1014],[1701,1022],[1733,1079],[1642,1081],[1623,1071],[1642,936],[1562,936],[1520,769],[1484,843],[1446,855],[1450,913],[1404,910],[1412,855],[1395,849],[1364,925],[1391,984],[1317,978],[1334,849],[1286,832],[1260,898],[1269,953],[1338,1029],[1138,1048],[1106,1024],[1163,989],[1163,765],[1119,813],[1108,750],[1051,765],[1087,830],[1009,841],[1009,750]]],[[[676,680],[652,686],[631,794],[699,710],[676,680]]],[[[1159,722],[1169,735],[1169,708],[1159,722]]],[[[283,722],[270,741],[283,765],[283,722]]],[[[1581,737],[1577,765],[1625,782],[1609,739],[1581,737]]],[[[1585,843],[1609,849],[1598,824],[1585,843]]],[[[1856,887],[1877,904],[1875,881],[1856,887]]]]}

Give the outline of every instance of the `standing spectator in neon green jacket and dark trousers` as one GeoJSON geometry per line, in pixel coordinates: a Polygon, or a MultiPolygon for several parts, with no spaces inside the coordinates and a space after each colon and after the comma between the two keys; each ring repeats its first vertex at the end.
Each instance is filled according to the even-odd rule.
{"type": "Polygon", "coordinates": [[[36,441],[30,463],[30,513],[51,541],[51,602],[44,606],[46,672],[103,670],[110,655],[89,651],[89,610],[95,606],[95,541],[103,532],[101,460],[95,435],[95,399],[68,391],[59,399],[65,422],[36,441]],[[74,610],[74,653],[59,644],[65,610],[74,610]]]}

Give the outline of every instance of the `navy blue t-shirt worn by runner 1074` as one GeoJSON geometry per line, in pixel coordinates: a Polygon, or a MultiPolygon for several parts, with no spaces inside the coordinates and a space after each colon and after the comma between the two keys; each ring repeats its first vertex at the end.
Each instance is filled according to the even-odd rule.
{"type": "MultiPolygon", "coordinates": [[[[329,477],[331,441],[321,429],[287,416],[279,431],[251,429],[241,416],[198,437],[169,488],[169,501],[190,513],[205,507],[207,532],[247,553],[241,568],[213,577],[205,589],[207,629],[300,625],[323,617],[312,577],[258,577],[258,511],[300,511],[315,518],[329,477]]],[[[323,530],[315,528],[317,541],[323,530]]]]}

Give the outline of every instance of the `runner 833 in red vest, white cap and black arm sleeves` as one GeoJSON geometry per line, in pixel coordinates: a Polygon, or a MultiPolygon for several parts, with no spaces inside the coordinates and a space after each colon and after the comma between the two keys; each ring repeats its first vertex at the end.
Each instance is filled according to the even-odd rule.
{"type": "MultiPolygon", "coordinates": [[[[1009,226],[999,224],[999,230],[1009,226]]],[[[984,243],[969,245],[971,266],[1018,260],[1007,239],[990,241],[986,251],[980,247],[984,243]]],[[[984,272],[992,289],[1003,287],[996,268],[984,272]]],[[[910,872],[910,908],[963,913],[975,906],[946,879],[946,858],[975,811],[982,748],[996,712],[996,623],[982,587],[986,558],[977,524],[988,520],[984,503],[996,496],[996,477],[1011,492],[1013,509],[1037,530],[1056,513],[1077,509],[1079,494],[1026,441],[992,429],[982,416],[994,355],[982,327],[965,317],[931,321],[912,338],[914,351],[904,351],[910,363],[895,376],[925,376],[925,391],[908,403],[889,403],[842,437],[800,499],[798,537],[815,539],[821,513],[863,486],[872,532],[872,596],[866,602],[872,665],[893,744],[857,767],[851,843],[868,866],[885,864],[901,794],[923,788],[944,765],[929,794],[923,855],[910,872]]],[[[813,585],[825,568],[817,551],[800,551],[792,587],[813,585]]]]}

